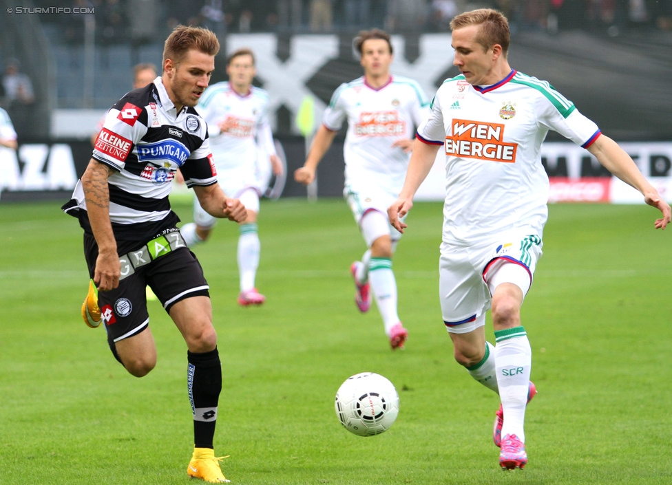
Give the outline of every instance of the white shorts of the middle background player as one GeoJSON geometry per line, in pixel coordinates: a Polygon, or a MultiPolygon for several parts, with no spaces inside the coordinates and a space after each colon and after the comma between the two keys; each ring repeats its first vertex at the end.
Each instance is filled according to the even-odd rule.
{"type": "MultiPolygon", "coordinates": [[[[401,239],[401,233],[395,229],[388,219],[388,207],[396,200],[397,195],[381,191],[375,187],[364,191],[355,191],[352,186],[346,185],[343,195],[348,201],[350,211],[353,211],[355,222],[359,226],[361,235],[369,248],[373,241],[381,236],[389,235],[392,242],[401,239]],[[382,217],[364,217],[369,213],[380,213],[382,217]]],[[[405,217],[402,217],[403,221],[405,217]]]]}

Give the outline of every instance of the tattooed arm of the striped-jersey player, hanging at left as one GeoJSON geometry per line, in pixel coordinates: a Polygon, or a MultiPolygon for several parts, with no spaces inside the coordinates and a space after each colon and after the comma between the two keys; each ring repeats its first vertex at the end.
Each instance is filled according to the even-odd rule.
{"type": "Polygon", "coordinates": [[[93,158],[82,175],[82,188],[91,230],[98,244],[94,283],[99,291],[113,290],[119,285],[121,264],[116,252],[116,239],[109,221],[109,186],[107,179],[114,170],[93,158]]]}

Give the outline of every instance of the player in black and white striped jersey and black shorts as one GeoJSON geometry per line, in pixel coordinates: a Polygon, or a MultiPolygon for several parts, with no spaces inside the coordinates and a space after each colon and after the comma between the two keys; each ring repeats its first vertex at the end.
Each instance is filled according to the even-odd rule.
{"type": "Polygon", "coordinates": [[[84,230],[84,254],[114,357],[136,377],[156,365],[145,288],[154,291],[187,344],[193,416],[190,477],[228,482],[213,450],[222,388],[209,286],[180,235],[168,195],[178,169],[213,217],[245,218],[217,183],[207,125],[194,106],[208,86],[219,42],[178,25],[165,42],[163,74],[129,91],[105,118],[92,159],[63,211],[84,230]]]}

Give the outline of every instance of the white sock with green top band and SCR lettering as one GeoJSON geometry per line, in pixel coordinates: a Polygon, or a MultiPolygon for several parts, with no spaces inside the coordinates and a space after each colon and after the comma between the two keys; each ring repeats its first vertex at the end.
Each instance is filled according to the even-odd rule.
{"type": "Polygon", "coordinates": [[[497,341],[494,352],[497,386],[504,411],[502,439],[506,435],[516,435],[524,443],[532,349],[523,327],[495,331],[494,336],[497,341]]]}

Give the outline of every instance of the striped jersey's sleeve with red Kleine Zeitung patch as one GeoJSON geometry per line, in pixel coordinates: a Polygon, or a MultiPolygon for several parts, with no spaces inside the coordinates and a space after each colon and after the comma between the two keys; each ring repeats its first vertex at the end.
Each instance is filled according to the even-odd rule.
{"type": "Polygon", "coordinates": [[[121,98],[107,111],[92,157],[116,171],[123,170],[136,142],[147,133],[148,118],[144,108],[129,103],[126,97],[121,98]]]}

